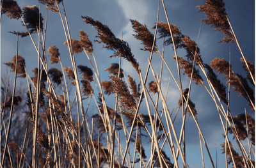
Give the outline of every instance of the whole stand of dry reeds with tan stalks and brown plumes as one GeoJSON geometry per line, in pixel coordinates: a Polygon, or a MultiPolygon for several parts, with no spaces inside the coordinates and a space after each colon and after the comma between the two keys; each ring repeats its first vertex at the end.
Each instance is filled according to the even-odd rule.
{"type": "MultiPolygon", "coordinates": [[[[186,148],[188,118],[198,129],[200,167],[217,167],[217,152],[209,150],[196,104],[191,100],[193,83],[209,93],[220,117],[221,150],[226,162],[221,167],[255,167],[255,119],[250,115],[255,111],[255,67],[244,57],[223,1],[206,0],[196,7],[205,13],[202,23],[225,35],[220,42],[236,42],[246,77],[237,73],[230,60],[215,57],[211,63],[204,63],[198,48],[200,29],[197,42],[182,34],[170,22],[162,0],[158,3],[157,19],[152,20],[154,33],[138,20],[130,20],[134,38],[140,40],[141,50],[149,56],[144,61],[148,66],[143,69],[129,43],[116,37],[111,26],[91,16],[81,16],[81,22],[95,28],[97,35],[93,40],[103,45],[102,50],[111,50],[110,59],[119,60],[104,70],[109,78],[102,80],[106,77],[100,76],[102,65],[97,65],[92,39],[82,29],[79,39],[70,35],[65,1],[39,0],[39,3],[40,6],[21,9],[16,1],[1,1],[1,18],[21,20],[26,28],[25,32],[9,32],[17,36],[17,49],[10,62],[4,63],[14,72],[10,73],[13,85],[10,77],[1,78],[1,167],[189,167],[188,153],[193,151],[186,148]],[[166,22],[159,21],[160,7],[166,22]],[[41,8],[47,9],[45,19],[41,8]],[[47,12],[60,16],[63,45],[68,50],[61,53],[65,54],[60,54],[54,44],[45,46],[46,34],[51,31],[47,29],[47,12]],[[37,53],[33,57],[37,65],[30,76],[24,57],[19,55],[20,38],[31,40],[31,50],[37,53]],[[161,40],[163,50],[158,47],[162,46],[161,40]],[[164,53],[164,47],[172,47],[174,51],[172,61],[177,65],[174,68],[164,56],[170,55],[164,53]],[[186,55],[179,56],[177,49],[184,50],[186,55]],[[75,54],[83,54],[86,65],[77,63],[75,54]],[[153,57],[161,60],[161,64],[156,65],[153,57]],[[69,66],[65,66],[67,59],[69,66]],[[121,68],[124,60],[138,76],[132,77],[121,68]],[[170,77],[167,85],[163,84],[163,71],[170,77]],[[17,84],[19,77],[21,85],[17,84]],[[184,88],[182,77],[188,78],[188,88],[184,88]],[[173,105],[168,103],[170,82],[180,94],[173,111],[173,105]],[[245,98],[250,112],[232,115],[231,91],[245,98]],[[145,141],[149,141],[147,145],[145,141]],[[209,160],[207,165],[205,159],[209,160]]],[[[214,128],[209,130],[213,131],[214,128]]]]}

